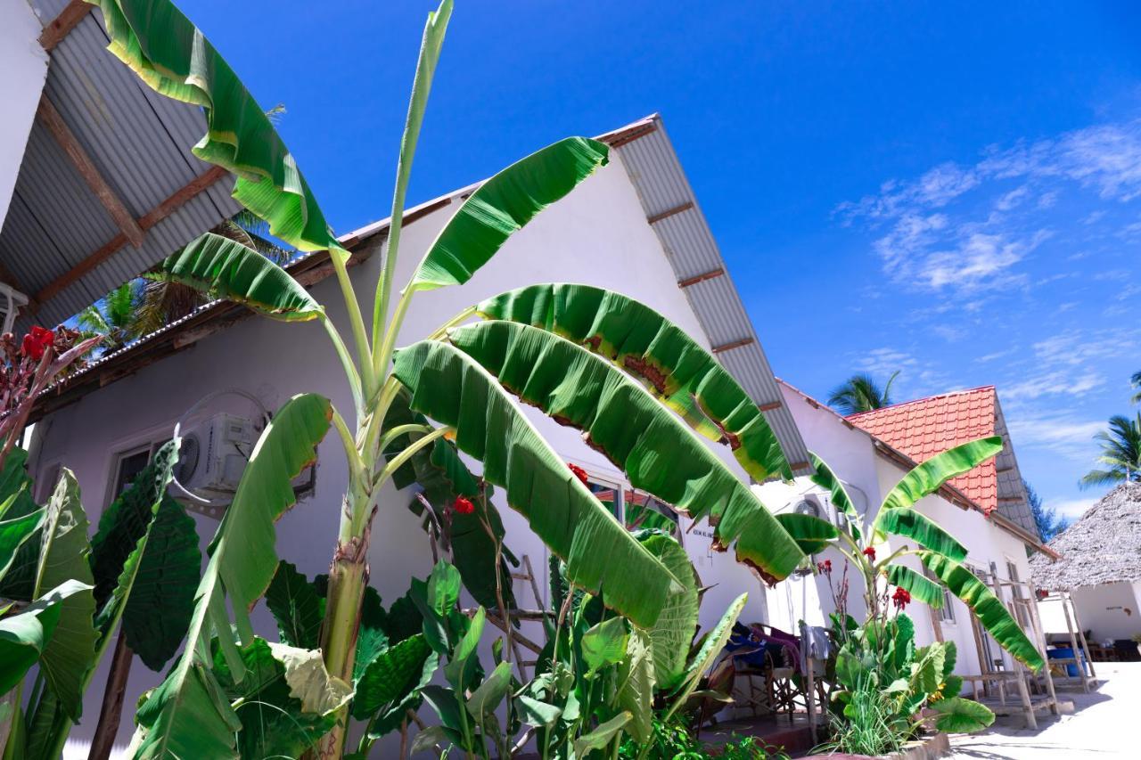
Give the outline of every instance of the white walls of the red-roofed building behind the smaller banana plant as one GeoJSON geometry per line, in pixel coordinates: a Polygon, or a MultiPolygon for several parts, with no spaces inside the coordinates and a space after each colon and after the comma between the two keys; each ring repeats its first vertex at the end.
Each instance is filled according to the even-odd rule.
{"type": "MultiPolygon", "coordinates": [[[[883,498],[906,474],[899,464],[888,461],[875,453],[871,437],[861,430],[853,429],[834,412],[823,405],[814,405],[795,390],[782,386],[784,401],[792,411],[796,427],[800,429],[808,448],[816,452],[832,470],[844,480],[849,494],[856,502],[856,508],[863,514],[871,512],[874,517],[883,498]]],[[[775,511],[792,509],[801,494],[816,493],[826,501],[823,492],[807,478],[798,478],[792,484],[768,483],[758,488],[764,502],[775,511]]],[[[916,509],[926,517],[945,527],[952,535],[966,547],[969,556],[966,565],[988,569],[995,563],[998,575],[1008,577],[1006,563],[1012,561],[1020,579],[1029,577],[1029,564],[1022,542],[1013,534],[988,520],[981,512],[965,510],[952,504],[939,495],[922,499],[916,509]]],[[[905,543],[899,536],[889,536],[885,548],[877,548],[880,557],[899,549],[905,543]]],[[[911,542],[914,545],[914,542],[911,542]]],[[[839,583],[840,576],[835,569],[842,566],[840,555],[830,550],[817,556],[817,560],[832,559],[834,567],[832,582],[839,583]]],[[[915,557],[903,561],[916,572],[922,566],[915,557]]],[[[849,579],[848,611],[855,617],[860,617],[863,609],[863,584],[858,579],[849,579]]],[[[1010,593],[1003,591],[1004,598],[1010,593]]],[[[823,575],[792,580],[778,585],[769,593],[769,620],[779,628],[795,630],[799,620],[811,625],[824,624],[828,613],[834,609],[833,591],[828,579],[823,575]]],[[[970,613],[966,606],[952,597],[954,622],[941,621],[944,640],[954,641],[958,649],[955,672],[980,672],[978,647],[971,626],[970,613]]],[[[908,614],[915,622],[916,644],[922,646],[934,640],[934,625],[931,612],[921,604],[912,605],[908,614]]],[[[1010,668],[1009,655],[997,646],[993,647],[996,656],[1002,656],[1010,668]]]]}

